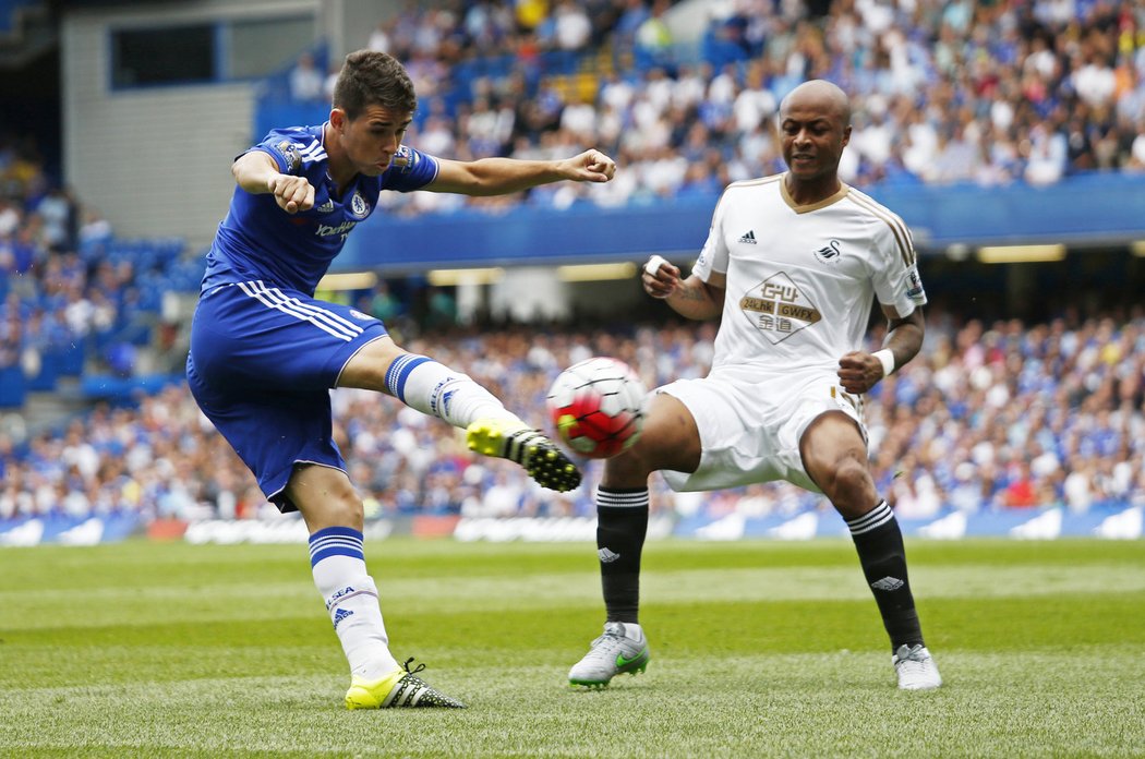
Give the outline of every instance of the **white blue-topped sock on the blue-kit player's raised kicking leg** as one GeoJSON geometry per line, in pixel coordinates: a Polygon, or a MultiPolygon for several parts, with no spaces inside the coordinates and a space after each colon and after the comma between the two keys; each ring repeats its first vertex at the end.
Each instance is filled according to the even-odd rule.
{"type": "MultiPolygon", "coordinates": [[[[404,354],[386,372],[386,387],[398,401],[455,427],[468,427],[476,419],[495,417],[521,421],[497,396],[433,358],[404,354]]],[[[524,422],[521,422],[522,425],[524,422]]]]}

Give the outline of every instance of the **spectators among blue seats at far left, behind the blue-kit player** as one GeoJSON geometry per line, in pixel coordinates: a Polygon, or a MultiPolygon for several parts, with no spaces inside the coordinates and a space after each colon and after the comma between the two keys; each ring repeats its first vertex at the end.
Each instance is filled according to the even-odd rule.
{"type": "Polygon", "coordinates": [[[135,373],[164,293],[195,292],[202,270],[182,240],[117,240],[31,141],[0,137],[0,406],[13,372],[39,390],[85,369],[135,373]]]}

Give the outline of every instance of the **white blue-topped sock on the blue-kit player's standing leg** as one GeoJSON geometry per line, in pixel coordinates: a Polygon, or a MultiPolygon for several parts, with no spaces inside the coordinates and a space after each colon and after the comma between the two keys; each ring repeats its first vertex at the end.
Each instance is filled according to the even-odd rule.
{"type": "Polygon", "coordinates": [[[397,670],[381,619],[378,587],[365,570],[362,533],[348,527],[331,527],[311,535],[310,569],[350,673],[379,680],[397,670]]]}

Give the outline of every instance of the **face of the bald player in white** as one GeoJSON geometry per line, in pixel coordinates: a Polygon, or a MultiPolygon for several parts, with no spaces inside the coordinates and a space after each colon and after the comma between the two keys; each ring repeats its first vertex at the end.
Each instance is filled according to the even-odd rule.
{"type": "Polygon", "coordinates": [[[780,112],[783,160],[799,181],[834,177],[851,127],[830,101],[792,96],[780,112]]]}

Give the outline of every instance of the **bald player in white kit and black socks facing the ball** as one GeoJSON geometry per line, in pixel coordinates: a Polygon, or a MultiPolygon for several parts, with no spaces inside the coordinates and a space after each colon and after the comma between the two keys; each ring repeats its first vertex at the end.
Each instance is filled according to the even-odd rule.
{"type": "Polygon", "coordinates": [[[780,108],[789,171],[726,189],[686,279],[658,256],[645,266],[648,294],[688,318],[718,317],[720,327],[709,375],[658,388],[640,440],[605,462],[597,545],[607,622],[569,672],[572,685],[602,687],[648,664],[639,575],[657,471],[678,491],[787,480],[827,496],[851,529],[899,688],[941,685],[902,532],[875,491],[862,418],[862,394],[922,347],[926,295],[907,226],[838,179],[850,124],[835,85],[793,89],[780,108]],[[867,353],[875,299],[889,332],[867,353]]]}

